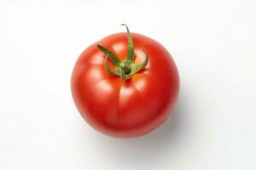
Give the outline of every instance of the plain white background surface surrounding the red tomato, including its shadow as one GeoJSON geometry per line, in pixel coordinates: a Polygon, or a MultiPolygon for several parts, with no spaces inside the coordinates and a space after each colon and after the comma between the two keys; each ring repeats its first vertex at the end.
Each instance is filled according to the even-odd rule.
{"type": "Polygon", "coordinates": [[[1,1],[1,170],[256,169],[254,1],[1,1]],[[137,139],[79,116],[79,54],[120,24],[161,42],[177,63],[177,108],[137,139]]]}

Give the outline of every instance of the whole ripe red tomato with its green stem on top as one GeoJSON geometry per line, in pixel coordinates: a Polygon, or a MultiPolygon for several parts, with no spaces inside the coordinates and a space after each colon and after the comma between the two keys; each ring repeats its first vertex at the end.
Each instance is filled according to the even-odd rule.
{"type": "Polygon", "coordinates": [[[170,116],[179,89],[177,66],[166,48],[127,26],[126,31],[86,48],[71,80],[73,100],[84,120],[119,138],[159,127],[170,116]]]}

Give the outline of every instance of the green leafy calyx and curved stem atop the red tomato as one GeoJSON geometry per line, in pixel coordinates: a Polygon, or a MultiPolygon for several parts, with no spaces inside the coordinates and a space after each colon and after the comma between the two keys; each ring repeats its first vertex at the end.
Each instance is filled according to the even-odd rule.
{"type": "Polygon", "coordinates": [[[146,59],[143,63],[135,64],[134,61],[134,48],[133,42],[131,38],[131,32],[129,31],[128,26],[122,24],[121,26],[126,27],[127,36],[128,36],[128,54],[124,60],[120,60],[115,54],[113,54],[107,48],[102,47],[101,45],[97,45],[97,47],[102,51],[102,53],[106,54],[105,58],[105,66],[108,74],[121,77],[122,80],[127,80],[132,77],[132,75],[136,74],[137,72],[143,70],[145,66],[148,64],[148,54],[146,54],[146,59]],[[108,59],[113,62],[114,69],[111,70],[108,65],[108,59]]]}

